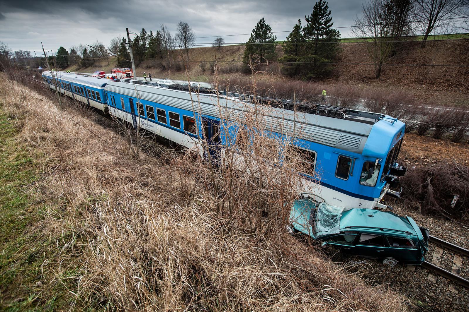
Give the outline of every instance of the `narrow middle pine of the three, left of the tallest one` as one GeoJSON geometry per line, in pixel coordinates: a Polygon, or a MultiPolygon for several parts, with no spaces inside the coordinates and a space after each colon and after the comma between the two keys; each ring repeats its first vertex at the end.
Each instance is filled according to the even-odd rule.
{"type": "Polygon", "coordinates": [[[293,27],[292,32],[287,37],[285,45],[282,46],[283,57],[279,59],[282,64],[282,74],[295,76],[300,74],[302,64],[296,63],[305,51],[305,40],[301,28],[301,20],[293,27]]]}

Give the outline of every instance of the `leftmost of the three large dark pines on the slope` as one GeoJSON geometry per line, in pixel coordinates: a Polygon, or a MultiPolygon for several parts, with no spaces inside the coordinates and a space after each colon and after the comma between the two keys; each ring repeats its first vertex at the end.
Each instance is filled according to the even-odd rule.
{"type": "Polygon", "coordinates": [[[252,30],[251,37],[246,43],[244,49],[244,60],[249,61],[252,57],[254,63],[259,58],[261,62],[265,62],[265,59],[275,59],[275,41],[277,37],[272,32],[272,27],[265,22],[264,17],[257,22],[256,27],[252,30]]]}

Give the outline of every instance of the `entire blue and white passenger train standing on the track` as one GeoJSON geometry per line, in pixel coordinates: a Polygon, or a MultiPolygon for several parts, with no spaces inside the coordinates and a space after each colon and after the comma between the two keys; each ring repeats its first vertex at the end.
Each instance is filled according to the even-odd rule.
{"type": "MultiPolygon", "coordinates": [[[[194,107],[196,101],[188,91],[151,82],[108,81],[64,72],[44,72],[43,79],[51,89],[60,88],[69,97],[189,149],[197,148],[202,139],[220,149],[231,141],[226,134],[235,132],[236,126],[220,119],[214,94],[192,94],[197,98],[194,107]]],[[[222,97],[220,104],[226,116],[227,112],[242,116],[250,105],[233,94],[222,97]]],[[[304,112],[270,108],[262,117],[273,132],[294,136],[293,144],[309,159],[310,171],[302,175],[304,192],[334,206],[386,208],[383,196],[399,196],[392,188],[406,171],[396,163],[405,124],[378,113],[315,107],[304,112]],[[301,131],[292,132],[294,128],[301,131]]]]}

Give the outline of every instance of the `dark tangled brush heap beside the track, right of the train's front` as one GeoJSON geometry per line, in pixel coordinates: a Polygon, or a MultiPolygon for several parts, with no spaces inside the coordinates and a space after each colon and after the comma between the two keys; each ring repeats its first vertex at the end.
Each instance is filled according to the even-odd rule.
{"type": "Polygon", "coordinates": [[[403,198],[419,203],[423,213],[469,222],[469,167],[457,163],[417,167],[401,181],[403,198]]]}

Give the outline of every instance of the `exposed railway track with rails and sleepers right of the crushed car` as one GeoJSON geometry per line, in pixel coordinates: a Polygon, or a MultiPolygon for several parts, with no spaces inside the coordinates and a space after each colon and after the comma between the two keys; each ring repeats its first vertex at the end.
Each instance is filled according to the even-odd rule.
{"type": "Polygon", "coordinates": [[[422,267],[469,289],[469,280],[460,275],[463,257],[469,257],[469,250],[434,236],[430,236],[430,243],[435,245],[435,250],[433,251],[431,262],[425,261],[422,267]],[[454,252],[451,271],[440,266],[441,256],[445,249],[454,252]]]}

